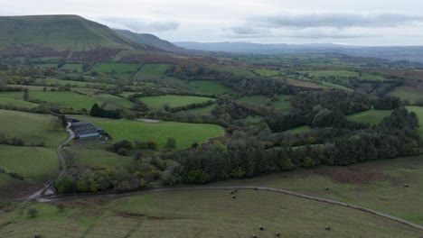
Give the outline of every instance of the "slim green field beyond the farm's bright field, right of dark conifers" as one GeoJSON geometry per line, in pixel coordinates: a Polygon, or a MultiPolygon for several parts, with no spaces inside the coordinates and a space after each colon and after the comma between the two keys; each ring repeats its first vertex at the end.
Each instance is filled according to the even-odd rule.
{"type": "Polygon", "coordinates": [[[211,97],[202,96],[145,96],[140,97],[139,100],[150,108],[160,108],[163,105],[169,105],[170,107],[176,107],[181,105],[190,105],[193,103],[202,103],[210,100],[216,100],[211,97]]]}

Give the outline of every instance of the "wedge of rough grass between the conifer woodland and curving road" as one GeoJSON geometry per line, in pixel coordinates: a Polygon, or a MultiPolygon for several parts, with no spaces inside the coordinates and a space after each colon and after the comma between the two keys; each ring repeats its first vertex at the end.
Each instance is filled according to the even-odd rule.
{"type": "Polygon", "coordinates": [[[233,184],[285,188],[423,224],[423,156],[368,161],[348,167],[322,166],[213,185],[233,184]],[[404,188],[405,183],[409,188],[404,188]]]}

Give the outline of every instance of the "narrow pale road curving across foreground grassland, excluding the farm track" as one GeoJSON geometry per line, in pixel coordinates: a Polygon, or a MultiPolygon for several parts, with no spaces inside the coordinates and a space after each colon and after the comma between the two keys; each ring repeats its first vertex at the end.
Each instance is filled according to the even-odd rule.
{"type": "Polygon", "coordinates": [[[398,222],[400,224],[406,224],[410,227],[417,228],[419,230],[423,231],[423,225],[415,224],[410,221],[407,221],[405,219],[402,219],[400,217],[394,216],[394,215],[388,215],[385,213],[382,213],[380,211],[376,211],[364,206],[357,206],[349,203],[344,203],[341,201],[336,201],[333,199],[328,199],[324,197],[315,197],[310,195],[305,195],[302,193],[297,193],[294,191],[281,189],[281,188],[267,188],[267,187],[251,187],[251,186],[203,186],[203,187],[185,187],[185,188],[155,188],[155,189],[148,189],[143,191],[136,191],[136,192],[128,192],[128,193],[105,193],[105,194],[82,194],[82,195],[63,195],[58,197],[40,197],[37,201],[39,202],[59,202],[59,201],[66,201],[66,200],[72,200],[77,198],[89,198],[89,197],[112,197],[112,198],[119,198],[119,197],[132,197],[132,196],[139,196],[146,193],[155,193],[155,192],[166,192],[166,191],[191,191],[191,190],[234,190],[234,189],[249,189],[249,190],[259,190],[259,191],[268,191],[268,192],[276,192],[280,194],[285,194],[288,196],[294,196],[294,197],[301,197],[309,200],[314,200],[317,202],[322,202],[326,204],[331,204],[335,206],[345,206],[348,208],[352,208],[361,212],[369,213],[371,215],[378,215],[381,217],[384,217],[386,219],[389,219],[394,222],[398,222]]]}

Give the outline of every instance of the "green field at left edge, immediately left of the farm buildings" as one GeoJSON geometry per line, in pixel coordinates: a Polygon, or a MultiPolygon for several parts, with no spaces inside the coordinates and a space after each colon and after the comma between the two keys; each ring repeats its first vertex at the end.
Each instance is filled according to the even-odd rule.
{"type": "Polygon", "coordinates": [[[24,140],[27,145],[44,142],[46,147],[56,148],[67,135],[64,131],[50,129],[51,120],[52,115],[0,110],[0,131],[24,140]]]}

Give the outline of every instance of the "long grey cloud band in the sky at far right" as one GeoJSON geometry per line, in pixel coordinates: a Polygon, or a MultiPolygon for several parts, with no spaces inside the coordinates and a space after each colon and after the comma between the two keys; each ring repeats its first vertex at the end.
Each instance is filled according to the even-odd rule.
{"type": "Polygon", "coordinates": [[[281,13],[251,17],[246,25],[261,27],[393,27],[423,21],[423,15],[408,15],[398,13],[281,13]]]}

